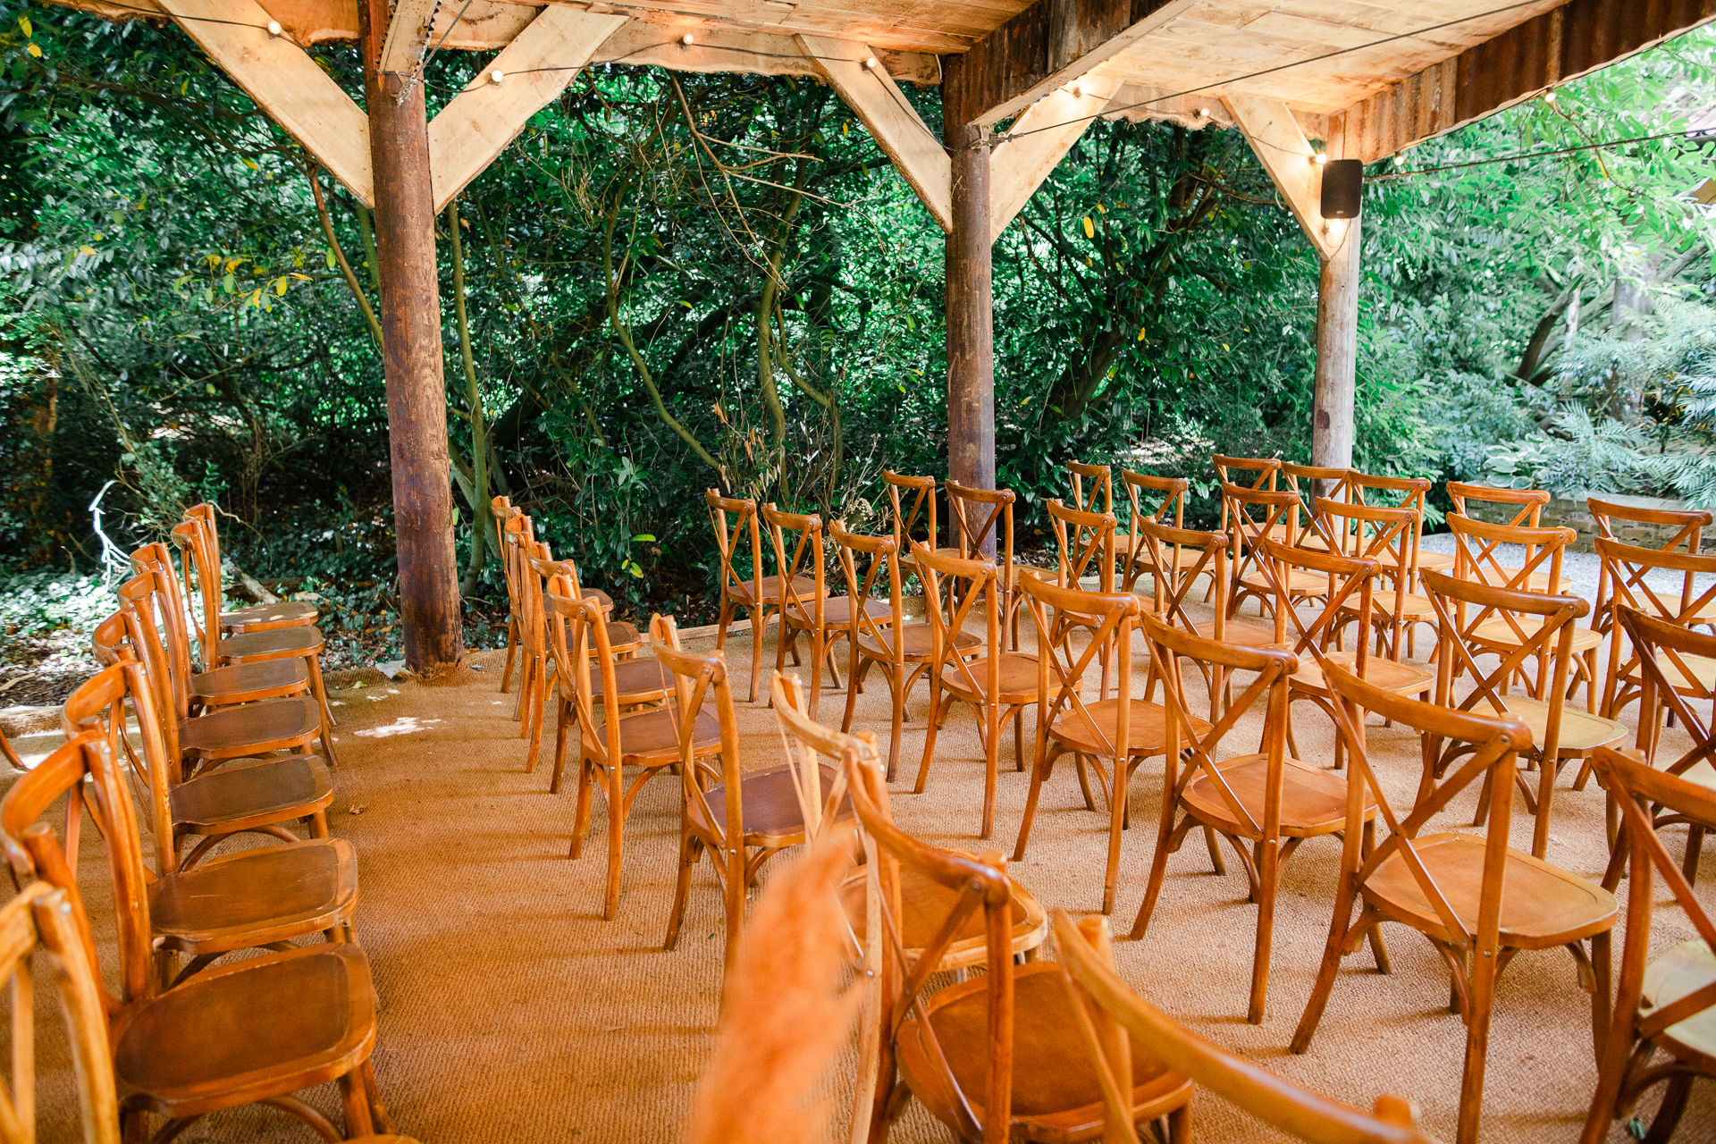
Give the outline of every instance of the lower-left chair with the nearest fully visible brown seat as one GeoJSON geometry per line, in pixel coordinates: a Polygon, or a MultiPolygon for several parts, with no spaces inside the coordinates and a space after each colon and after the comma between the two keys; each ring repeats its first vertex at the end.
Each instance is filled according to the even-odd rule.
{"type": "MultiPolygon", "coordinates": [[[[112,671],[112,669],[108,669],[112,671]]],[[[151,894],[125,777],[100,731],[86,731],[17,779],[0,801],[0,849],[19,883],[41,880],[65,892],[82,957],[101,991],[122,1139],[151,1139],[149,1117],[172,1139],[223,1108],[268,1103],[304,1120],[323,1139],[357,1139],[393,1120],[376,1074],[376,990],[369,959],[350,943],[268,952],[206,969],[165,990],[156,972],[151,894]],[[41,811],[70,792],[106,834],[108,892],[118,948],[113,996],[101,983],[89,918],[74,864],[41,811]],[[130,825],[127,825],[130,823],[130,825]],[[218,1031],[214,1036],[211,1031],[218,1031]],[[293,1093],[338,1082],[341,1134],[293,1093]]]]}

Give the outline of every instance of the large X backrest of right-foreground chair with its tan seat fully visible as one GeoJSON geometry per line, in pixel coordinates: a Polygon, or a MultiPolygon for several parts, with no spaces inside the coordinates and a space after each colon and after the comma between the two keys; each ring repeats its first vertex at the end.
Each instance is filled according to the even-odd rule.
{"type": "Polygon", "coordinates": [[[1431,912],[1441,921],[1457,947],[1483,950],[1488,957],[1500,955],[1502,894],[1507,875],[1508,827],[1514,799],[1505,792],[1514,789],[1519,751],[1531,748],[1531,727],[1508,715],[1477,715],[1440,703],[1409,700],[1383,691],[1335,662],[1323,664],[1323,677],[1335,695],[1335,729],[1347,746],[1347,823],[1342,840],[1342,871],[1352,878],[1350,887],[1364,882],[1385,861],[1397,858],[1423,894],[1431,912]],[[1400,816],[1390,803],[1388,787],[1380,780],[1364,744],[1364,712],[1417,731],[1424,738],[1426,760],[1447,760],[1445,775],[1436,780],[1435,768],[1426,762],[1424,784],[1409,813],[1400,816]],[[1452,746],[1447,753],[1443,741],[1452,746]],[[1474,784],[1488,782],[1496,798],[1489,801],[1489,823],[1484,835],[1484,861],[1479,878],[1479,906],[1474,926],[1469,926],[1448,902],[1441,887],[1431,876],[1414,840],[1419,832],[1441,813],[1450,799],[1474,784]],[[1387,823],[1376,834],[1383,839],[1369,854],[1363,852],[1366,799],[1376,806],[1376,815],[1387,823]]]}

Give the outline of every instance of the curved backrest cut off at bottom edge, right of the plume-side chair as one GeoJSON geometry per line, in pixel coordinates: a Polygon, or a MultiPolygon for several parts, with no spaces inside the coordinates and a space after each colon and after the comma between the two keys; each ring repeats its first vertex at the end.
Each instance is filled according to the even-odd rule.
{"type": "Polygon", "coordinates": [[[1251,1060],[1213,1045],[1139,996],[1114,967],[1114,935],[1109,919],[1097,916],[1074,923],[1054,912],[1057,964],[1067,1000],[1086,1021],[1074,1022],[1086,1060],[1097,1070],[1103,1093],[1107,1134],[1103,1141],[1136,1142],[1133,1115],[1131,1043],[1126,1036],[1103,1036],[1112,1022],[1158,1062],[1273,1129],[1306,1144],[1433,1144],[1417,1130],[1412,1101],[1380,1096],[1369,1113],[1302,1089],[1265,1072],[1251,1060]]]}

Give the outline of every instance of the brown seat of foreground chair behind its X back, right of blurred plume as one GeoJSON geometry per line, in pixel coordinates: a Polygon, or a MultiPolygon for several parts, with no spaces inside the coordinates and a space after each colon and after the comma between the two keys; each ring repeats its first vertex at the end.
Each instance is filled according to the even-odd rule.
{"type": "MultiPolygon", "coordinates": [[[[1103,1105],[1097,1074],[1076,1048],[1078,1015],[1072,1012],[1054,962],[1031,962],[1012,971],[1012,1141],[1078,1141],[1102,1134],[1103,1105]]],[[[947,1060],[978,1120],[988,1087],[988,981],[947,986],[930,996],[928,1019],[935,1043],[947,1060]]],[[[897,1036],[899,1072],[911,1093],[944,1123],[952,1118],[954,1094],[946,1091],[934,1050],[920,1019],[901,1024],[897,1036]]],[[[1133,1105],[1138,1120],[1162,1115],[1191,1098],[1191,1081],[1169,1072],[1133,1039],[1133,1105]]]]}

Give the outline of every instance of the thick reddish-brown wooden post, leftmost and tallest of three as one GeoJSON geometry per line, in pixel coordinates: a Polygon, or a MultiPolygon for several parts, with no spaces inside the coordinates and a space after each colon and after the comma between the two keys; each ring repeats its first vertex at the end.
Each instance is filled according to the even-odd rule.
{"type": "Polygon", "coordinates": [[[400,561],[405,664],[436,676],[463,653],[453,489],[441,374],[441,292],[434,257],[434,192],[424,87],[383,75],[388,0],[360,0],[364,106],[376,189],[381,333],[393,458],[393,537],[400,561]]]}

